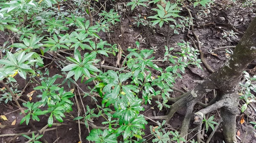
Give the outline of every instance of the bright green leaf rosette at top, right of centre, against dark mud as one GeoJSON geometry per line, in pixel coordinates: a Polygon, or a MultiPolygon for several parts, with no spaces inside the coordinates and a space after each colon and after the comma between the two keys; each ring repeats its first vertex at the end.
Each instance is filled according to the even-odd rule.
{"type": "Polygon", "coordinates": [[[169,21],[175,22],[176,20],[170,17],[180,17],[178,13],[180,11],[178,10],[174,10],[175,8],[177,8],[177,4],[173,4],[171,5],[171,3],[168,1],[166,3],[166,7],[163,8],[163,6],[161,5],[157,5],[158,8],[152,8],[152,10],[157,11],[157,14],[154,16],[150,16],[148,18],[152,18],[152,19],[156,19],[153,20],[151,22],[153,22],[153,26],[159,23],[160,28],[163,26],[164,22],[169,23],[169,21]]]}

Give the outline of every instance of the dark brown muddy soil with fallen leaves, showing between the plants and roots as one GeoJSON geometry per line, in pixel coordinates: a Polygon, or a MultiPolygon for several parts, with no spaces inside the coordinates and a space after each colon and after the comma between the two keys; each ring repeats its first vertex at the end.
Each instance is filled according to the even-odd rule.
{"type": "MultiPolygon", "coordinates": [[[[241,7],[241,8],[239,7],[240,7],[240,3],[232,3],[231,0],[230,1],[216,0],[215,5],[213,5],[212,8],[209,9],[210,13],[207,15],[205,15],[204,13],[198,14],[198,11],[199,11],[198,7],[193,8],[192,6],[188,6],[187,8],[189,8],[192,11],[192,17],[194,17],[194,25],[204,25],[207,23],[231,24],[231,25],[234,25],[234,28],[236,28],[236,30],[238,30],[239,32],[244,32],[247,29],[250,22],[252,21],[253,17],[255,17],[256,15],[255,14],[256,6],[254,5],[254,6],[247,6],[247,7],[241,7]],[[234,21],[234,17],[236,14],[237,16],[234,21]]],[[[138,11],[140,11],[140,13],[146,13],[146,11],[142,11],[140,9],[138,11]]],[[[165,53],[164,45],[166,45],[166,31],[167,31],[168,25],[163,25],[162,28],[158,27],[156,29],[157,31],[155,31],[154,34],[152,34],[152,30],[148,31],[147,27],[140,26],[139,28],[137,28],[136,25],[132,25],[132,22],[134,22],[134,18],[132,17],[136,16],[136,13],[138,11],[125,13],[127,17],[125,15],[122,15],[122,26],[121,25],[116,26],[116,33],[112,32],[110,33],[110,35],[106,35],[105,33],[99,33],[99,36],[101,36],[103,40],[106,40],[111,44],[117,43],[118,45],[120,45],[125,55],[128,54],[128,51],[127,51],[128,47],[137,48],[137,46],[135,45],[135,41],[138,40],[141,43],[140,49],[149,49],[151,47],[154,47],[155,52],[153,56],[155,56],[155,59],[163,58],[165,53]],[[122,28],[122,33],[120,32],[120,27],[122,28]],[[148,40],[147,40],[147,37],[148,37],[148,40]],[[142,39],[144,39],[145,41],[143,41],[142,39]],[[146,43],[147,41],[148,41],[148,44],[146,43]]],[[[203,12],[207,12],[207,10],[203,12]]],[[[185,8],[183,8],[181,15],[184,17],[189,17],[189,14],[185,8]]],[[[206,59],[208,64],[213,68],[213,70],[219,69],[225,63],[227,56],[229,55],[225,52],[225,50],[218,50],[214,54],[212,54],[210,50],[214,50],[215,48],[219,48],[222,46],[235,46],[241,39],[241,36],[234,37],[233,39],[230,39],[230,40],[227,38],[219,37],[219,34],[221,32],[230,31],[230,30],[231,29],[228,29],[225,26],[218,27],[218,28],[216,27],[215,28],[214,27],[195,28],[195,33],[198,35],[198,38],[200,39],[200,42],[202,45],[201,50],[204,53],[204,58],[206,59]]],[[[169,47],[175,48],[174,53],[179,51],[179,48],[177,47],[176,44],[177,42],[182,42],[181,39],[191,42],[186,37],[186,33],[183,33],[182,31],[179,31],[179,33],[180,34],[174,34],[174,31],[171,28],[169,29],[168,44],[169,44],[169,47]]],[[[194,39],[192,35],[190,36],[194,39]]],[[[2,35],[2,38],[0,37],[1,43],[5,42],[5,39],[8,39],[8,38],[6,38],[5,35],[2,35]]],[[[227,48],[227,50],[231,51],[233,49],[227,48]]],[[[115,62],[116,62],[116,59],[105,57],[106,65],[108,65],[108,63],[115,63],[115,62]]],[[[169,66],[168,63],[164,63],[164,62],[163,63],[158,62],[157,65],[162,68],[169,66]]],[[[177,79],[175,87],[180,90],[183,90],[184,92],[196,87],[198,84],[197,81],[200,81],[210,75],[209,71],[204,67],[204,65],[201,64],[201,66],[203,67],[203,70],[200,70],[194,66],[187,67],[185,70],[185,73],[182,73],[183,79],[177,79]]],[[[250,69],[253,69],[254,67],[255,67],[255,64],[254,66],[248,67],[247,70],[250,71],[250,69]]],[[[61,74],[61,70],[57,68],[55,65],[53,65],[49,69],[49,75],[53,76],[55,74],[61,74]]],[[[157,75],[159,73],[155,72],[154,74],[157,75]]],[[[255,72],[252,73],[252,76],[253,74],[255,74],[255,72]]],[[[16,76],[15,79],[17,80],[17,83],[19,83],[18,90],[23,90],[23,88],[25,87],[24,83],[26,81],[20,78],[19,76],[16,76]]],[[[62,80],[63,79],[57,79],[55,81],[55,84],[56,83],[61,84],[62,80]]],[[[93,87],[93,84],[88,85],[88,84],[81,84],[79,82],[78,84],[79,84],[79,87],[86,92],[89,91],[87,86],[93,87]]],[[[30,84],[26,88],[23,94],[25,96],[21,96],[21,99],[25,101],[29,101],[29,98],[26,96],[26,94],[30,93],[33,90],[34,86],[36,86],[35,83],[30,84]]],[[[64,89],[70,89],[67,84],[64,84],[63,87],[64,89]]],[[[39,94],[40,93],[34,93],[34,95],[32,96],[33,102],[40,100],[40,98],[36,97],[36,95],[39,95],[39,94]]],[[[177,93],[176,91],[172,93],[172,97],[177,97],[179,95],[180,93],[177,93]]],[[[202,99],[202,102],[204,103],[206,100],[210,101],[212,98],[213,98],[213,93],[208,93],[206,95],[206,98],[202,99]]],[[[78,96],[78,99],[79,99],[79,96],[78,96]]],[[[100,98],[97,98],[97,100],[101,102],[100,98]]],[[[82,102],[84,103],[84,105],[88,105],[90,108],[96,108],[95,102],[92,101],[90,97],[82,98],[82,102]]],[[[22,104],[22,102],[20,102],[20,104],[22,104]]],[[[242,104],[244,103],[241,101],[241,105],[242,104]]],[[[155,105],[156,103],[153,101],[151,105],[144,106],[145,111],[141,112],[141,114],[143,114],[144,116],[152,116],[153,109],[151,109],[151,107],[154,107],[154,111],[156,111],[157,115],[166,115],[168,113],[169,111],[168,109],[163,109],[159,111],[157,109],[157,106],[155,105]]],[[[256,107],[256,104],[252,103],[252,106],[256,107]]],[[[81,106],[80,108],[82,109],[83,107],[81,106]]],[[[201,108],[202,108],[201,106],[196,105],[195,111],[201,108]]],[[[19,110],[15,111],[17,109],[18,108],[15,107],[14,104],[12,104],[12,102],[10,101],[7,104],[2,104],[2,103],[0,104],[0,115],[7,114],[6,118],[8,119],[8,121],[0,120],[1,122],[0,135],[25,133],[25,132],[33,131],[31,126],[26,126],[24,124],[19,125],[20,120],[23,118],[23,115],[20,115],[19,110]],[[11,125],[14,120],[16,120],[16,125],[11,125]],[[3,127],[3,125],[7,125],[7,126],[3,127]]],[[[169,122],[172,129],[178,130],[180,128],[184,118],[185,111],[186,109],[181,109],[177,113],[175,113],[175,115],[169,122]]],[[[252,117],[255,120],[256,112],[251,107],[248,107],[248,110],[246,111],[246,113],[248,113],[248,116],[252,117]]],[[[66,118],[64,120],[64,123],[66,123],[67,125],[58,126],[57,129],[55,130],[45,132],[44,137],[49,143],[53,143],[58,137],[60,137],[58,139],[58,143],[78,143],[79,142],[79,127],[78,127],[78,124],[73,121],[73,118],[77,117],[76,105],[73,105],[72,112],[66,113],[65,115],[66,115],[66,118]]],[[[215,115],[214,121],[217,122],[219,120],[217,113],[212,112],[209,115],[209,117],[212,115],[215,115]]],[[[47,117],[39,116],[39,118],[40,118],[40,122],[33,121],[33,124],[36,126],[38,130],[40,130],[42,127],[47,125],[47,117]]],[[[256,143],[255,134],[253,132],[250,132],[253,129],[253,126],[250,123],[248,123],[249,121],[247,119],[247,114],[244,114],[244,119],[245,119],[245,122],[241,124],[240,123],[241,116],[237,117],[236,129],[237,131],[240,132],[239,138],[242,140],[243,143],[256,143]]],[[[93,121],[96,126],[104,126],[101,124],[103,121],[105,121],[103,118],[95,118],[93,121]]],[[[149,130],[149,126],[156,126],[156,124],[151,121],[148,121],[148,124],[146,125],[146,129],[144,131],[145,138],[148,139],[147,142],[151,143],[152,142],[150,140],[151,136],[146,137],[151,134],[149,130]]],[[[195,125],[193,125],[191,121],[190,128],[194,128],[194,127],[195,125]]],[[[205,135],[206,138],[209,137],[209,134],[211,133],[211,131],[212,130],[209,128],[209,131],[205,135]]],[[[196,139],[196,137],[194,137],[195,134],[196,132],[190,133],[189,138],[196,139]]],[[[84,125],[81,125],[81,137],[82,137],[83,143],[89,143],[87,140],[85,140],[85,138],[88,135],[89,135],[88,129],[85,128],[84,125]]],[[[11,143],[9,141],[12,138],[13,136],[0,137],[0,143],[11,143]]],[[[220,126],[219,129],[217,129],[217,131],[215,132],[214,136],[212,137],[212,140],[210,141],[210,143],[223,143],[223,140],[224,140],[224,137],[222,135],[222,129],[220,126]]],[[[23,136],[18,136],[14,138],[13,143],[14,142],[25,143],[26,141],[27,140],[23,136]]]]}

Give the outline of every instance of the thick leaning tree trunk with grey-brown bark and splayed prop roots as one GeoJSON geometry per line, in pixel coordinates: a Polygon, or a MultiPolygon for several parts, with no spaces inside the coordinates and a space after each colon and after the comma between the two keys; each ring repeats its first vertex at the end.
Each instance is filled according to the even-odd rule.
{"type": "Polygon", "coordinates": [[[222,126],[225,143],[234,143],[236,140],[236,114],[239,114],[238,84],[241,75],[247,65],[256,59],[256,18],[251,22],[244,36],[236,46],[234,53],[224,66],[212,73],[198,87],[182,95],[178,101],[172,104],[171,110],[166,116],[151,117],[151,119],[166,119],[166,123],[181,107],[187,107],[187,112],[181,128],[181,137],[187,135],[189,121],[192,115],[192,107],[200,101],[208,92],[217,91],[217,97],[211,101],[208,107],[195,113],[195,122],[201,123],[205,114],[221,108],[222,126]]]}

